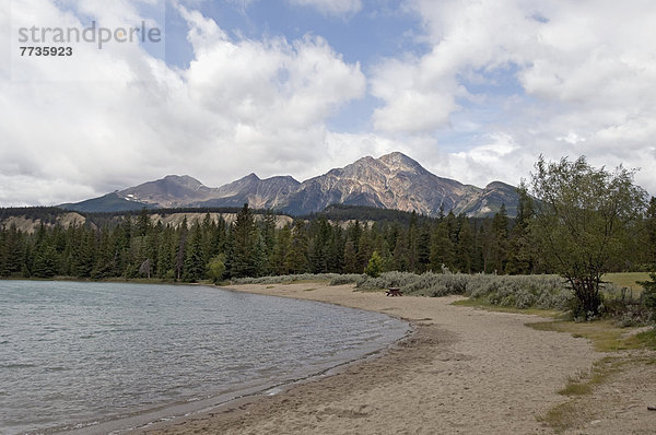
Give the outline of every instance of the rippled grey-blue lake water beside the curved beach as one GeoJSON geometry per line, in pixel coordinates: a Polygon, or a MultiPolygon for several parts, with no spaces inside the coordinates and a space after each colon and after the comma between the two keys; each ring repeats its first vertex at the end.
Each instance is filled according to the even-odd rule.
{"type": "Polygon", "coordinates": [[[407,331],[380,314],[203,286],[0,281],[0,433],[120,432],[407,331]]]}

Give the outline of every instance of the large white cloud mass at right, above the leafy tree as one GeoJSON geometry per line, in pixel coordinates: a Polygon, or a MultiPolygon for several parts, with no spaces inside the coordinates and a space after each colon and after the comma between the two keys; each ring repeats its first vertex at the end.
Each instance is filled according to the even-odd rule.
{"type": "MultiPolygon", "coordinates": [[[[434,168],[464,174],[458,179],[503,177],[516,183],[512,178],[518,173],[527,176],[540,153],[552,158],[584,154],[599,166],[642,166],[637,180],[656,192],[656,161],[648,158],[656,132],[654,2],[411,0],[407,4],[423,21],[421,42],[427,50],[372,68],[372,93],[383,103],[373,118],[380,133],[448,138],[457,114],[459,124],[470,117],[471,124],[481,126],[477,143],[442,154],[434,168]],[[504,70],[515,71],[519,95],[502,89],[507,104],[500,104],[495,121],[485,124],[464,106],[488,105],[490,87],[480,86],[481,77],[507,74],[504,70]],[[477,85],[475,91],[467,89],[470,84],[477,85]],[[509,138],[514,151],[487,152],[495,137],[509,138]],[[478,172],[484,175],[468,175],[478,172]]],[[[434,140],[430,148],[436,150],[437,143],[434,140]]]]}

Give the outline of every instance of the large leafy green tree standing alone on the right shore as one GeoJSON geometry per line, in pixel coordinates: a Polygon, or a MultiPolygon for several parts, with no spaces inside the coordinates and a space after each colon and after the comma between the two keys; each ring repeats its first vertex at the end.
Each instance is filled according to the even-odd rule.
{"type": "Polygon", "coordinates": [[[601,275],[629,258],[631,240],[646,207],[634,173],[574,162],[546,162],[531,174],[537,202],[535,234],[546,260],[564,277],[578,302],[578,316],[599,313],[601,275]]]}

